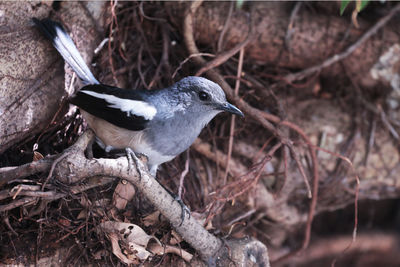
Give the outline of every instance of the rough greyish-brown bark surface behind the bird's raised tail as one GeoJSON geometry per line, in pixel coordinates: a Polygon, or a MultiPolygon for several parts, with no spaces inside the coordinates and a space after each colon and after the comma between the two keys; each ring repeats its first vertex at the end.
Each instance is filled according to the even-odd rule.
{"type": "MultiPolygon", "coordinates": [[[[63,60],[31,22],[50,10],[39,2],[0,3],[0,153],[43,132],[68,110],[71,71],[64,81],[63,60]]],[[[100,2],[61,4],[61,20],[87,61],[98,44],[103,12],[100,2]]]]}

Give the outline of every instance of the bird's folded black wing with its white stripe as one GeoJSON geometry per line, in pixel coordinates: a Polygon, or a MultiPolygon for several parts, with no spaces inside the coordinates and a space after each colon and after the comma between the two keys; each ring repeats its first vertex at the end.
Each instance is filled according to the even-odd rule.
{"type": "MultiPolygon", "coordinates": [[[[81,88],[70,99],[70,102],[85,110],[93,116],[99,117],[109,123],[128,130],[139,131],[146,128],[146,124],[154,117],[156,109],[143,99],[143,93],[137,90],[127,90],[103,84],[92,84],[81,88]],[[131,103],[149,105],[148,114],[135,113],[134,105],[126,111],[123,105],[126,100],[131,103]]],[[[140,109],[140,107],[139,107],[140,109]]],[[[146,111],[146,110],[144,110],[146,111]]]]}

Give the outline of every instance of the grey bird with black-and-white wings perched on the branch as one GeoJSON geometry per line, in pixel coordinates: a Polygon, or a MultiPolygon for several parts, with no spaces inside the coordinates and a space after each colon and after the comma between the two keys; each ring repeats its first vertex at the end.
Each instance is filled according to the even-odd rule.
{"type": "Polygon", "coordinates": [[[102,84],[60,23],[32,20],[82,81],[69,101],[79,107],[100,146],[107,152],[128,148],[144,154],[153,176],[160,164],[187,150],[217,114],[244,116],[218,84],[202,77],[185,77],[155,90],[102,84]]]}

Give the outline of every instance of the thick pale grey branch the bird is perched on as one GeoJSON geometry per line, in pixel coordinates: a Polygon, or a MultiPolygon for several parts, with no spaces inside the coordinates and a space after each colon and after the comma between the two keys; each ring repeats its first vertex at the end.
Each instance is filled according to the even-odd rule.
{"type": "MultiPolygon", "coordinates": [[[[129,166],[126,157],[118,159],[86,159],[83,153],[93,133],[83,134],[71,150],[76,152],[73,157],[66,157],[55,168],[54,173],[63,181],[78,181],[85,177],[105,175],[125,179],[144,194],[173,225],[176,231],[187,241],[204,260],[213,258],[222,246],[222,242],[207,232],[192,216],[185,217],[181,222],[181,206],[152,177],[147,168],[138,161],[138,166],[129,166]],[[78,150],[80,148],[82,150],[78,150]]],[[[67,153],[70,153],[67,152],[67,153]]]]}

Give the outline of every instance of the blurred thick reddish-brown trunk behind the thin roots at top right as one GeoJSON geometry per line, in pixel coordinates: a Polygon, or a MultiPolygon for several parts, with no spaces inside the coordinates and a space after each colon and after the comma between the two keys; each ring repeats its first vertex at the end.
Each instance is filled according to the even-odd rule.
{"type": "MultiPolygon", "coordinates": [[[[200,44],[216,47],[219,36],[227,19],[230,3],[203,3],[194,17],[196,40],[200,44]]],[[[169,4],[177,21],[185,15],[185,5],[169,4]]],[[[356,42],[361,35],[371,28],[373,21],[358,18],[360,28],[355,28],[348,16],[338,16],[315,12],[305,5],[300,7],[294,18],[293,28],[288,39],[293,2],[251,2],[249,13],[234,11],[225,33],[225,49],[242,42],[249,33],[252,23],[257,32],[246,49],[246,63],[249,65],[268,66],[270,70],[306,69],[317,65],[327,58],[338,54],[356,42]]],[[[339,9],[337,10],[339,13],[339,9]]],[[[391,22],[395,25],[396,19],[391,22]]],[[[328,81],[347,79],[348,75],[360,87],[373,88],[383,81],[371,76],[370,70],[391,46],[400,42],[395,27],[385,27],[358,47],[342,63],[333,64],[324,69],[321,77],[328,81]]],[[[277,78],[282,78],[278,75],[277,78]]]]}

